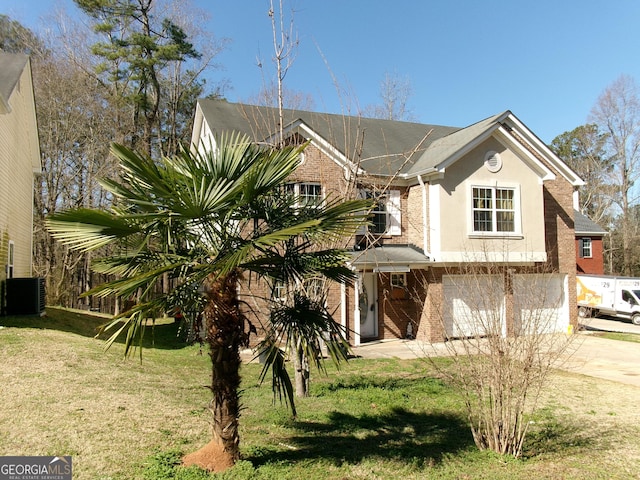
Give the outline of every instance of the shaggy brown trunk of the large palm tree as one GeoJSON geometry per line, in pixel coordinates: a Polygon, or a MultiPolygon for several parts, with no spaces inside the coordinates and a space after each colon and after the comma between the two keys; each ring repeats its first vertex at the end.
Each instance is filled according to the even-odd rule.
{"type": "Polygon", "coordinates": [[[244,317],[238,300],[238,272],[207,282],[206,340],[212,378],[213,441],[235,463],[240,457],[240,347],[245,344],[244,317]]]}

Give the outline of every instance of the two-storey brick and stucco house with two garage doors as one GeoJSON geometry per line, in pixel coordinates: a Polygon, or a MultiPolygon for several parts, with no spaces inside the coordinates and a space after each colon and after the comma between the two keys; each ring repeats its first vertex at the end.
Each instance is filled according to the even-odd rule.
{"type": "MultiPolygon", "coordinates": [[[[278,124],[273,108],[203,99],[193,144],[211,148],[232,130],[273,142],[278,124]]],[[[282,131],[309,141],[291,178],[297,193],[375,199],[371,226],[343,245],[355,285],[328,297],[352,345],[478,334],[476,313],[489,313],[474,303],[489,298],[504,333],[534,308],[550,314],[547,330],[576,324],[574,192],[583,182],[510,111],[457,128],[286,110],[282,131]]]]}

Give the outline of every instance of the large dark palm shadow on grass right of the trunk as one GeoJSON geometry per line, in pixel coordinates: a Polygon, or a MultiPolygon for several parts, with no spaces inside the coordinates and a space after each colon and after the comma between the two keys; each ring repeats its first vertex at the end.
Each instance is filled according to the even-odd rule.
{"type": "Polygon", "coordinates": [[[471,432],[456,415],[416,413],[394,408],[386,413],[329,413],[326,423],[296,422],[300,432],[287,439],[286,451],[260,449],[254,465],[324,459],[336,466],[364,459],[399,460],[416,467],[434,465],[445,455],[473,446],[471,432]]]}

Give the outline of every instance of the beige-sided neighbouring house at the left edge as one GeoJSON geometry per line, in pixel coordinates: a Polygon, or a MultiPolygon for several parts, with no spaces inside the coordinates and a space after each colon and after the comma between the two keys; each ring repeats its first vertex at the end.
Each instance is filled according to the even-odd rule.
{"type": "Polygon", "coordinates": [[[0,283],[30,277],[40,146],[29,57],[0,51],[0,283]]]}

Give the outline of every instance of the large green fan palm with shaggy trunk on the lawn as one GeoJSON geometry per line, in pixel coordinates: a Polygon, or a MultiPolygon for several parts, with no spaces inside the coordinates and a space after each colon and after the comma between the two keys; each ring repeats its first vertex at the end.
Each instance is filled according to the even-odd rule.
{"type": "MultiPolygon", "coordinates": [[[[52,235],[72,248],[112,246],[115,253],[95,261],[93,268],[117,279],[89,294],[137,299],[104,327],[113,332],[108,345],[126,331],[125,353],[149,312],[176,307],[176,299],[202,292],[212,363],[213,441],[233,462],[239,458],[240,349],[251,330],[238,296],[239,281],[255,272],[290,283],[309,275],[348,282],[352,272],[346,252],[323,245],[352,235],[370,208],[361,200],[333,200],[307,210],[287,200],[293,209],[287,211],[280,193],[305,146],[260,146],[229,134],[207,154],[185,150],[156,162],[113,145],[121,178],[102,185],[113,195],[114,207],[108,212],[70,210],[48,220],[52,235]],[[154,286],[167,275],[176,287],[154,296],[154,286]]],[[[305,334],[320,333],[307,325],[305,334]]],[[[282,350],[267,350],[277,390],[293,407],[282,350]]]]}

